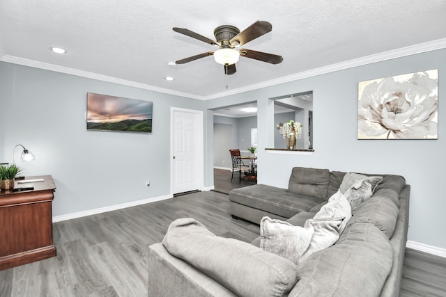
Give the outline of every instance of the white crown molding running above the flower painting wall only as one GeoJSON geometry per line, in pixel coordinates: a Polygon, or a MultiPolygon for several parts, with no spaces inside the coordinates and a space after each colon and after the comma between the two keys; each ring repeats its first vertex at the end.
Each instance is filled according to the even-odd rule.
{"type": "Polygon", "coordinates": [[[433,40],[429,42],[420,43],[419,45],[411,45],[409,47],[402,47],[400,49],[394,49],[392,51],[384,51],[379,54],[373,54],[370,56],[364,56],[361,58],[355,58],[353,60],[344,61],[341,63],[335,63],[332,65],[327,65],[323,67],[318,67],[312,70],[307,70],[304,72],[298,72],[295,74],[288,75],[286,77],[280,77],[279,79],[271,79],[269,81],[263,81],[261,83],[254,83],[243,88],[236,88],[229,91],[224,91],[222,93],[215,93],[213,95],[208,95],[205,97],[206,100],[215,99],[220,97],[225,97],[229,95],[236,95],[239,93],[244,93],[250,90],[257,90],[259,88],[266,88],[269,86],[279,85],[281,83],[288,83],[290,81],[297,81],[299,79],[307,79],[309,77],[316,77],[321,74],[328,74],[330,72],[335,72],[339,70],[345,70],[348,68],[353,68],[357,66],[367,65],[371,63],[377,63],[381,61],[391,60],[393,58],[401,58],[404,56],[410,56],[413,54],[421,54],[426,51],[435,51],[436,49],[446,48],[446,38],[433,40]]]}

